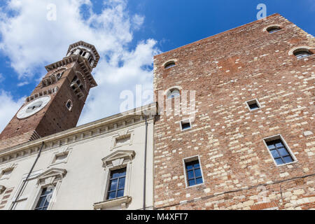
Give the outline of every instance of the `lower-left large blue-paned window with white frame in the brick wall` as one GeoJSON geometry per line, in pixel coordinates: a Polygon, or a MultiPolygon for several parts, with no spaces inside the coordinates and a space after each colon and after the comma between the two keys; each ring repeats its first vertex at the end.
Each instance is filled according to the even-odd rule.
{"type": "Polygon", "coordinates": [[[202,172],[199,160],[185,162],[185,167],[188,186],[195,186],[197,184],[204,183],[202,180],[202,172]]]}

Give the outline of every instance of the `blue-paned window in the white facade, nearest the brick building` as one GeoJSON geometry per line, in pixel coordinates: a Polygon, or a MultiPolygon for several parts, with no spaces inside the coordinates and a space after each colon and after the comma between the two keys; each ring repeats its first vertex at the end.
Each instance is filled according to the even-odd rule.
{"type": "Polygon", "coordinates": [[[111,171],[107,200],[123,197],[125,191],[126,168],[111,171]]]}

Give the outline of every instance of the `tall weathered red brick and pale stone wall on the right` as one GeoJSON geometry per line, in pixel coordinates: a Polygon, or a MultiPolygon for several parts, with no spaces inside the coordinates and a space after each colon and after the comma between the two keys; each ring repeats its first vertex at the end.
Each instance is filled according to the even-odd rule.
{"type": "Polygon", "coordinates": [[[304,132],[314,133],[315,55],[288,55],[302,45],[314,51],[314,37],[275,14],[155,56],[155,91],[197,91],[192,129],[181,132],[182,115],[155,123],[155,207],[314,208],[315,138],[304,132]],[[268,25],[282,29],[269,34],[268,25]],[[176,66],[164,69],[169,59],[176,66]],[[251,99],[261,109],[250,112],[251,99]],[[297,162],[276,167],[262,140],[276,134],[297,162]],[[186,188],[183,158],[195,155],[204,184],[186,188]],[[256,199],[262,186],[269,204],[256,199]]]}

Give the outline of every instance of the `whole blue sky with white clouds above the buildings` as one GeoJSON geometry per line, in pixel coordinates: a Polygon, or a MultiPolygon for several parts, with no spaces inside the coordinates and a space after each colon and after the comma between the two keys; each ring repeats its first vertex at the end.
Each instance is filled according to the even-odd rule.
{"type": "MultiPolygon", "coordinates": [[[[0,130],[69,44],[94,44],[102,57],[79,125],[118,113],[120,92],[152,90],[153,55],[256,20],[258,3],[315,34],[314,0],[10,0],[0,3],[0,130]],[[47,6],[56,20],[47,20],[47,6]]],[[[137,106],[137,105],[134,105],[137,106]]]]}

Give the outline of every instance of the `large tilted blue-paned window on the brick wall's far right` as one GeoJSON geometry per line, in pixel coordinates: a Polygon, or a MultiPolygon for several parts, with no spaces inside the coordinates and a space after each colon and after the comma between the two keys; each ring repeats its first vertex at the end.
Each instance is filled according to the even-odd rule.
{"type": "Polygon", "coordinates": [[[265,140],[265,143],[276,165],[283,165],[295,161],[281,138],[265,140]]]}

